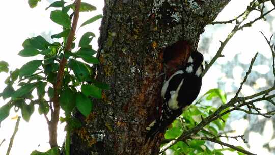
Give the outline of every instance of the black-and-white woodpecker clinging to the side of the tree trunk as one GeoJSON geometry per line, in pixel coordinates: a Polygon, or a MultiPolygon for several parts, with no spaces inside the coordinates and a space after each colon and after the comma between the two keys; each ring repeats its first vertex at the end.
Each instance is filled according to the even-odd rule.
{"type": "Polygon", "coordinates": [[[161,89],[163,104],[160,115],[146,127],[147,139],[166,131],[167,127],[197,98],[202,86],[202,62],[203,55],[194,51],[186,65],[164,81],[161,89]]]}

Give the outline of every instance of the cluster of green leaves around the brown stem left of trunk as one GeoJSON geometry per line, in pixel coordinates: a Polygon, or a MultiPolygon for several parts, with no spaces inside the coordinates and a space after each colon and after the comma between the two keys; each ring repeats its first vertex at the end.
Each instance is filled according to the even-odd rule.
{"type": "MultiPolygon", "coordinates": [[[[38,2],[29,1],[29,5],[33,8],[38,2]]],[[[57,83],[57,74],[63,58],[67,59],[68,63],[65,66],[62,87],[58,96],[60,107],[67,115],[77,109],[81,114],[88,116],[93,109],[91,98],[100,99],[102,90],[109,89],[107,84],[98,82],[93,77],[94,70],[91,66],[99,64],[98,59],[94,57],[96,51],[90,45],[95,37],[94,33],[85,33],[78,42],[77,48],[73,43],[72,51],[65,51],[72,24],[68,12],[75,9],[74,4],[56,1],[46,10],[48,8],[57,8],[51,11],[50,19],[63,27],[62,32],[52,35],[51,38],[63,38],[63,42],[49,42],[40,35],[28,38],[22,43],[23,49],[18,55],[34,57],[32,61],[10,72],[8,63],[0,61],[0,72],[10,74],[5,80],[6,88],[0,93],[0,97],[4,100],[9,99],[7,104],[0,107],[0,123],[9,116],[12,107],[16,112],[21,110],[25,121],[30,120],[35,105],[38,105],[38,112],[41,115],[46,116],[50,110],[52,112],[53,86],[57,83]]],[[[96,10],[96,7],[91,4],[81,3],[80,5],[82,12],[93,10],[96,10]]],[[[92,17],[81,26],[90,24],[101,17],[102,15],[92,17]]]]}

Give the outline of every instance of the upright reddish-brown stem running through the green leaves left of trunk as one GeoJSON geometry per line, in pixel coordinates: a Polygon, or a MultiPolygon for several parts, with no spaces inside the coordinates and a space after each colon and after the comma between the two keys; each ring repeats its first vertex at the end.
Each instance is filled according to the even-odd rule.
{"type": "MultiPolygon", "coordinates": [[[[77,26],[77,21],[79,17],[79,8],[80,8],[81,0],[75,0],[75,11],[74,11],[74,17],[73,17],[73,23],[72,27],[68,36],[68,40],[66,42],[64,53],[71,51],[71,45],[74,39],[75,30],[77,26]]],[[[56,84],[53,85],[53,113],[52,118],[49,125],[49,143],[50,147],[56,147],[57,144],[57,125],[59,121],[59,112],[60,112],[60,106],[59,106],[59,90],[61,89],[63,77],[64,77],[64,69],[67,64],[67,59],[65,57],[62,58],[62,61],[59,66],[58,74],[57,74],[57,81],[56,84]]]]}

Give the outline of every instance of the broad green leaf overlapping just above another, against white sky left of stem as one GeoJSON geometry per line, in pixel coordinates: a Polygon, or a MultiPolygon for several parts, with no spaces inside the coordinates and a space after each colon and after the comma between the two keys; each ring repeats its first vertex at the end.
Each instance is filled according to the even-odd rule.
{"type": "Polygon", "coordinates": [[[50,43],[47,42],[47,40],[42,36],[36,36],[34,38],[30,38],[29,43],[30,43],[30,45],[28,45],[29,47],[32,46],[33,48],[36,48],[39,50],[47,49],[48,46],[50,45],[50,43]]]}

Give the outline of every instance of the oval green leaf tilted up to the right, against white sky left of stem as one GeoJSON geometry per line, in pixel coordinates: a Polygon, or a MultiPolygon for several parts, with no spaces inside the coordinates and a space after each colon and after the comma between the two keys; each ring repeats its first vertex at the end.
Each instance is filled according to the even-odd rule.
{"type": "Polygon", "coordinates": [[[26,64],[24,64],[19,72],[19,76],[23,77],[23,76],[30,76],[32,75],[39,66],[41,66],[42,64],[42,60],[32,60],[26,64]]]}

